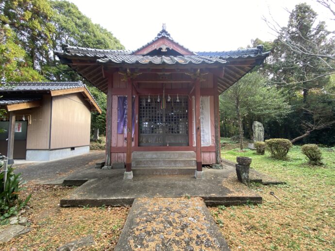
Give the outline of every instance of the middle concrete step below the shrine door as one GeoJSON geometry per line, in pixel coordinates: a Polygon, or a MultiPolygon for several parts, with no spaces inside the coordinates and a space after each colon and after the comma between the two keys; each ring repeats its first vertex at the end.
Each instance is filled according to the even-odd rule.
{"type": "Polygon", "coordinates": [[[132,161],[133,167],[195,167],[197,165],[195,158],[157,158],[157,159],[134,159],[132,161]]]}

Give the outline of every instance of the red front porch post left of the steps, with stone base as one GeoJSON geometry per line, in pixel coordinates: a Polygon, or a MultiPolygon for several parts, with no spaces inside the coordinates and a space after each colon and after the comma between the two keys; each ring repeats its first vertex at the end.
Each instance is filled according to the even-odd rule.
{"type": "Polygon", "coordinates": [[[132,179],[132,139],[133,139],[133,82],[127,78],[127,148],[126,148],[126,172],[123,179],[132,179]]]}

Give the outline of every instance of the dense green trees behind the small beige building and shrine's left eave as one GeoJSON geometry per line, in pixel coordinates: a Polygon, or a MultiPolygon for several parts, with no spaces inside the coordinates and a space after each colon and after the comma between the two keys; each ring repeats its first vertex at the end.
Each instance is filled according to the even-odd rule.
{"type": "Polygon", "coordinates": [[[1,81],[83,81],[101,107],[92,113],[91,128],[105,131],[106,97],[63,65],[53,51],[63,44],[123,49],[110,31],[94,24],[65,0],[4,0],[0,2],[1,81]]]}

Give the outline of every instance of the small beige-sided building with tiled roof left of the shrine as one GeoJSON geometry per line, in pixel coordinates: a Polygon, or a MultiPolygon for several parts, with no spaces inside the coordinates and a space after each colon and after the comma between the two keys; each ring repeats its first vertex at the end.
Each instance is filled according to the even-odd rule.
{"type": "Polygon", "coordinates": [[[81,82],[12,82],[0,86],[0,153],[48,161],[89,152],[91,111],[101,109],[81,82]],[[13,140],[14,139],[14,140],[13,140]]]}

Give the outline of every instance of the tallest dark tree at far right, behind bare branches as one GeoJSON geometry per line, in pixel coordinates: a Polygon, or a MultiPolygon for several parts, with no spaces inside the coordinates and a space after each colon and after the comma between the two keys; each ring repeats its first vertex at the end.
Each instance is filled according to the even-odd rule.
{"type": "MultiPolygon", "coordinates": [[[[329,4],[330,10],[331,2],[335,3],[319,2],[329,4]]],[[[317,17],[309,5],[301,3],[290,12],[285,27],[265,19],[278,37],[264,69],[275,86],[289,92],[294,111],[283,126],[286,137],[293,142],[305,139],[312,132],[316,134],[317,130],[324,131],[335,121],[332,102],[323,102],[335,94],[327,88],[335,74],[335,32],[328,31],[325,22],[317,21],[317,17]]]]}

